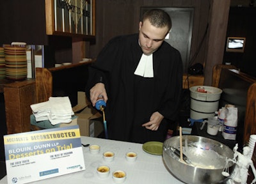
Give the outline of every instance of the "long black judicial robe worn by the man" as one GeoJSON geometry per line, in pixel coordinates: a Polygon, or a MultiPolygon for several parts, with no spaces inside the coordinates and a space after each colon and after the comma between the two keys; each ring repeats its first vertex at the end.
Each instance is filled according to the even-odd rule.
{"type": "Polygon", "coordinates": [[[108,94],[109,139],[163,142],[168,123],[177,118],[183,73],[180,52],[163,42],[153,54],[153,78],[134,75],[142,54],[138,34],[118,36],[101,50],[89,69],[86,95],[97,82],[105,84],[108,94]],[[164,116],[158,130],[141,127],[156,111],[164,116]]]}

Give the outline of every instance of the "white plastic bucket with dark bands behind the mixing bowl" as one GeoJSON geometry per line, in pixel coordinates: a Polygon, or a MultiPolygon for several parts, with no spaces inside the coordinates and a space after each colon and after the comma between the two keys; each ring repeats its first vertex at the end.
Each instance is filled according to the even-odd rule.
{"type": "Polygon", "coordinates": [[[193,86],[190,90],[190,118],[211,118],[218,111],[222,90],[212,86],[193,86]],[[204,88],[207,93],[198,92],[198,88],[204,88]]]}

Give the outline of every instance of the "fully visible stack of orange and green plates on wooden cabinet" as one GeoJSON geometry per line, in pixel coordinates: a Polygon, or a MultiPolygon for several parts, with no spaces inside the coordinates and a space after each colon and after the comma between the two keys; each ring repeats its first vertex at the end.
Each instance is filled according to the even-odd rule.
{"type": "Polygon", "coordinates": [[[6,78],[15,81],[26,79],[28,73],[26,47],[4,47],[4,57],[6,78]]]}

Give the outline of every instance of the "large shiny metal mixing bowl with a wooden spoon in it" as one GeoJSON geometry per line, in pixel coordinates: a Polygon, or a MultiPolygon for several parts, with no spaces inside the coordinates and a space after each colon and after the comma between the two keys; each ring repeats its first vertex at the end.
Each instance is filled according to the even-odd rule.
{"type": "MultiPolygon", "coordinates": [[[[180,137],[171,137],[164,141],[163,160],[171,173],[185,183],[220,183],[225,180],[221,174],[225,168],[226,158],[232,159],[234,152],[224,144],[195,135],[182,135],[183,153],[190,164],[180,162],[180,157],[173,152],[180,150],[180,137]]],[[[185,157],[185,158],[186,158],[185,157]]],[[[228,169],[234,169],[234,163],[228,162],[228,169]]]]}

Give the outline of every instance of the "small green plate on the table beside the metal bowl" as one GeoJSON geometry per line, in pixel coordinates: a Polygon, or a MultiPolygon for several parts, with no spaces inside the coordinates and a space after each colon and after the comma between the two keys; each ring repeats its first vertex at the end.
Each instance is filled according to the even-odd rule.
{"type": "Polygon", "coordinates": [[[142,145],[142,149],[152,155],[163,155],[163,142],[150,141],[142,145]]]}

